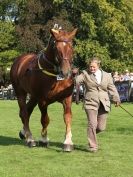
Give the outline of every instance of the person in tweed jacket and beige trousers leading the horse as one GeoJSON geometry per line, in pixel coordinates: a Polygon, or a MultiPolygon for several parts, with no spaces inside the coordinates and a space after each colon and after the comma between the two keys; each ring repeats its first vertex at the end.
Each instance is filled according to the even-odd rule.
{"type": "MultiPolygon", "coordinates": [[[[78,70],[74,70],[76,73],[78,70]]],[[[110,73],[100,69],[100,60],[93,57],[87,63],[87,70],[76,77],[76,85],[85,86],[84,108],[88,118],[89,151],[96,152],[98,143],[96,134],[105,130],[110,98],[115,106],[120,105],[120,97],[110,73]]]]}

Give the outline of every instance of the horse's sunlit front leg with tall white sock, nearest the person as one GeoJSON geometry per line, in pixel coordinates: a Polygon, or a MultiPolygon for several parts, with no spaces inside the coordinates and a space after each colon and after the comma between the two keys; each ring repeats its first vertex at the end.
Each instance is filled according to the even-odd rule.
{"type": "Polygon", "coordinates": [[[72,120],[71,106],[72,106],[72,96],[67,97],[63,101],[64,122],[66,124],[64,151],[66,151],[66,152],[70,152],[73,150],[72,132],[71,132],[71,120],[72,120]]]}

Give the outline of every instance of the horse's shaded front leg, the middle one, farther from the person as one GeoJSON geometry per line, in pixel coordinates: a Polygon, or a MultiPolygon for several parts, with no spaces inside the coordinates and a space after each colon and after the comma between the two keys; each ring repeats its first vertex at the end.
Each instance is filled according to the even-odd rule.
{"type": "Polygon", "coordinates": [[[47,147],[49,144],[49,139],[47,136],[47,127],[49,124],[47,106],[45,106],[44,103],[39,103],[38,106],[41,111],[41,124],[42,124],[41,139],[39,140],[39,145],[43,147],[47,147]]]}

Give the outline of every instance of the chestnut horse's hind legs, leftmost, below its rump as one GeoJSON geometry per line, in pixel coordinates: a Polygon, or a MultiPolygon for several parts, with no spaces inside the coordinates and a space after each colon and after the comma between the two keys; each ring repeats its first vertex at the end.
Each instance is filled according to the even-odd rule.
{"type": "Polygon", "coordinates": [[[34,99],[30,99],[26,104],[26,95],[21,95],[18,96],[18,104],[20,107],[20,117],[23,123],[23,130],[21,130],[19,133],[20,138],[25,138],[26,144],[29,147],[34,147],[36,146],[36,143],[30,131],[29,118],[37,102],[34,99]]]}

